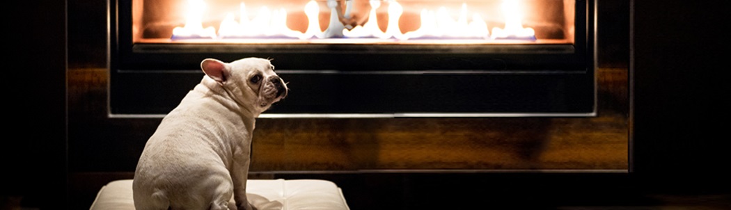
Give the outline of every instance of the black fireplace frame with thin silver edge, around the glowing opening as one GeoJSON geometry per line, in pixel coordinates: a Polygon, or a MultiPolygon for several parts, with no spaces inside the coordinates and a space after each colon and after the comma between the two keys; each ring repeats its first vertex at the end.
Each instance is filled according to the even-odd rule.
{"type": "Polygon", "coordinates": [[[202,59],[262,57],[291,92],[261,117],[593,117],[596,0],[575,7],[575,44],[133,44],[110,0],[109,113],[162,116],[202,59]]]}

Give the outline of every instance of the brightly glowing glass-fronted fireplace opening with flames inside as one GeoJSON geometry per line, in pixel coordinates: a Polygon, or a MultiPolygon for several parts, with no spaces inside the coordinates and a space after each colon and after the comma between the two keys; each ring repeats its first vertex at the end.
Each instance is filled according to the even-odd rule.
{"type": "Polygon", "coordinates": [[[135,0],[135,43],[573,44],[569,0],[135,0]]]}

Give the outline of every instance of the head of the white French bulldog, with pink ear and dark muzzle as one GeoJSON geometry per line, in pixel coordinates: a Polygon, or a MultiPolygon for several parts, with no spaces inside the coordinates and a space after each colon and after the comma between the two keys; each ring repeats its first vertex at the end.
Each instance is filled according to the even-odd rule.
{"type": "Polygon", "coordinates": [[[259,113],[287,96],[287,84],[268,59],[243,58],[225,63],[207,58],[200,63],[205,75],[219,82],[233,100],[259,113]]]}

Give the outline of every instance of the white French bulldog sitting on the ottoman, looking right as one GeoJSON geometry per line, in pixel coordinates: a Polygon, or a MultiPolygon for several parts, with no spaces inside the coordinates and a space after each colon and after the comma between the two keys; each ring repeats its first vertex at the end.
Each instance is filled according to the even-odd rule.
{"type": "Polygon", "coordinates": [[[137,210],[253,209],[246,179],[255,118],[289,90],[267,59],[208,58],[200,67],[200,84],[145,144],[132,184],[137,210]]]}

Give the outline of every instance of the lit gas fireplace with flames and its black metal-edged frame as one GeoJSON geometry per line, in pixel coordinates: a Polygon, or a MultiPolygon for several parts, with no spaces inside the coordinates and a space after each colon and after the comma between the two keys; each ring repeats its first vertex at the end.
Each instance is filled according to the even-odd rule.
{"type": "Polygon", "coordinates": [[[165,114],[204,58],[270,58],[262,117],[593,116],[594,1],[117,0],[110,113],[165,114]]]}

